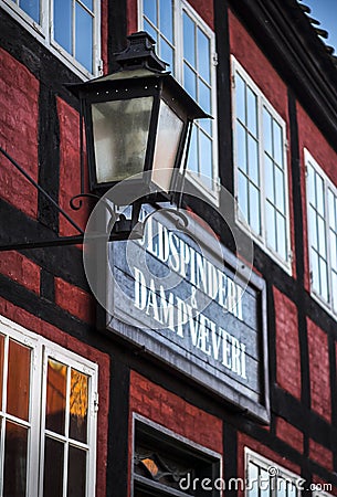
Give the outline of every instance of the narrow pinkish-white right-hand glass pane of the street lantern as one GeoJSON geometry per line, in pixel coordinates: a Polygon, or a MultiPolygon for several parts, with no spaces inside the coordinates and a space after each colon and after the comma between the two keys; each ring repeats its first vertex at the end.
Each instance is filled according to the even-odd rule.
{"type": "Polygon", "coordinates": [[[165,191],[170,189],[182,131],[183,121],[164,101],[160,101],[152,181],[165,191]]]}

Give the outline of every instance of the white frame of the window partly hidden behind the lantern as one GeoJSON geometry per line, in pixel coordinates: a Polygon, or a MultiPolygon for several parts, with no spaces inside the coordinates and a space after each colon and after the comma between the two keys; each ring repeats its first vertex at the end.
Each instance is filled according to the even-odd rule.
{"type": "MultiPolygon", "coordinates": [[[[144,29],[143,23],[143,1],[138,0],[138,27],[139,30],[144,29]]],[[[168,0],[161,0],[168,1],[168,0]]],[[[212,106],[212,173],[213,173],[213,188],[208,188],[202,178],[199,178],[193,171],[187,169],[187,178],[190,182],[197,187],[203,194],[207,195],[213,203],[219,205],[220,193],[220,178],[219,178],[219,165],[218,165],[218,118],[217,118],[217,51],[215,51],[215,34],[207,22],[200,17],[200,14],[186,1],[186,0],[172,0],[173,2],[173,47],[175,47],[175,77],[182,85],[183,82],[183,31],[182,31],[182,12],[186,11],[191,20],[198,24],[203,33],[210,40],[210,78],[211,78],[211,106],[212,106]]]]}

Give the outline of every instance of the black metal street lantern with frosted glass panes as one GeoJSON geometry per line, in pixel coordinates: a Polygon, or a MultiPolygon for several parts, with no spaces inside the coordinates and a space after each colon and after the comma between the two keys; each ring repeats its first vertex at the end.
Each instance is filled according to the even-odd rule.
{"type": "Polygon", "coordinates": [[[193,119],[208,117],[155,54],[146,32],[116,54],[120,70],[72,85],[84,117],[89,188],[124,181],[124,201],[175,189],[193,119]]]}

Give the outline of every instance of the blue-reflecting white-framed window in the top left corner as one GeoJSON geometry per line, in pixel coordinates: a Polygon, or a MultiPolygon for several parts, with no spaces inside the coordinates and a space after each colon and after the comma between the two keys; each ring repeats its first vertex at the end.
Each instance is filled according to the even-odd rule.
{"type": "Polygon", "coordinates": [[[78,73],[99,73],[98,0],[1,0],[0,6],[78,73]]]}

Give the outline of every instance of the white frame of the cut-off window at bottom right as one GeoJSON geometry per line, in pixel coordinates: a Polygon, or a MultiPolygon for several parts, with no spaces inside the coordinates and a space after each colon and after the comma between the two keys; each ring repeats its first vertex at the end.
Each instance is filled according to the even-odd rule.
{"type": "MultiPolygon", "coordinates": [[[[273,461],[268,459],[267,457],[262,456],[261,454],[257,454],[256,452],[252,451],[249,447],[244,447],[244,476],[245,482],[248,485],[245,485],[245,497],[249,497],[250,495],[250,488],[252,487],[252,482],[250,480],[250,474],[249,474],[249,463],[254,464],[255,466],[259,466],[261,469],[264,469],[270,478],[274,477],[281,477],[282,479],[289,482],[293,484],[296,488],[296,497],[301,496],[301,485],[303,484],[303,478],[295,473],[286,469],[283,466],[280,466],[278,464],[274,463],[273,461]]],[[[265,480],[262,482],[263,489],[265,489],[265,480]]],[[[271,496],[277,497],[277,485],[273,485],[270,488],[271,496]]]]}

